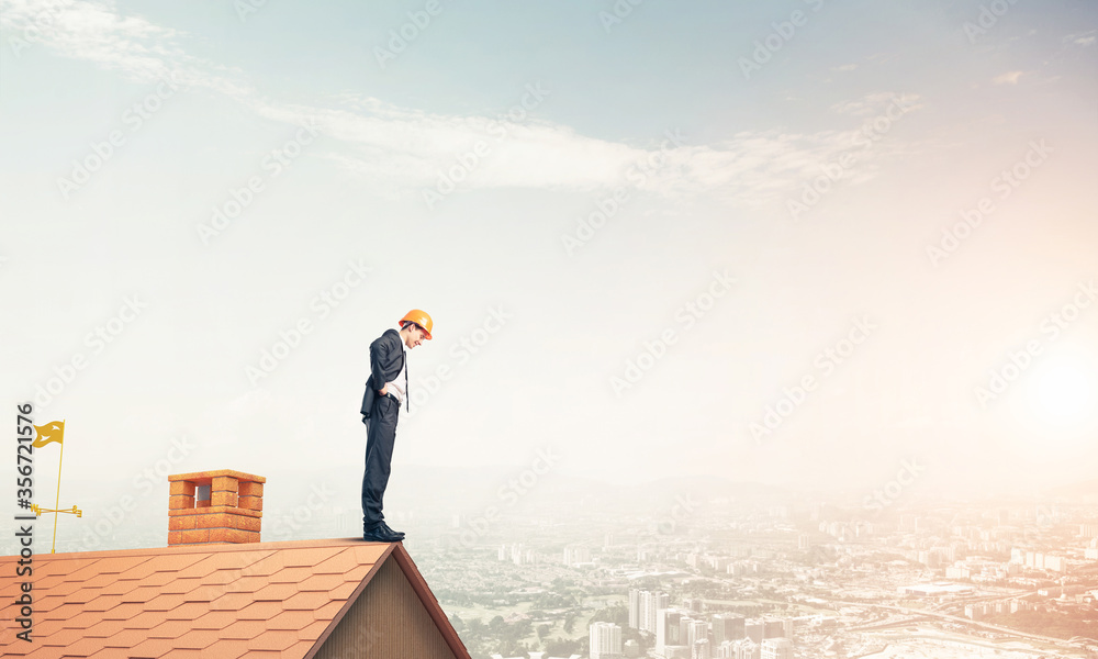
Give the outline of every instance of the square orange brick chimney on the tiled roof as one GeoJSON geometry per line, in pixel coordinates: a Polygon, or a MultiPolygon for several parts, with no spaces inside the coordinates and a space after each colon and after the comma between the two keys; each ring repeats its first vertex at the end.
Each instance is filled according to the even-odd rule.
{"type": "Polygon", "coordinates": [[[266,478],[219,469],[168,482],[168,546],[259,541],[266,478]]]}

